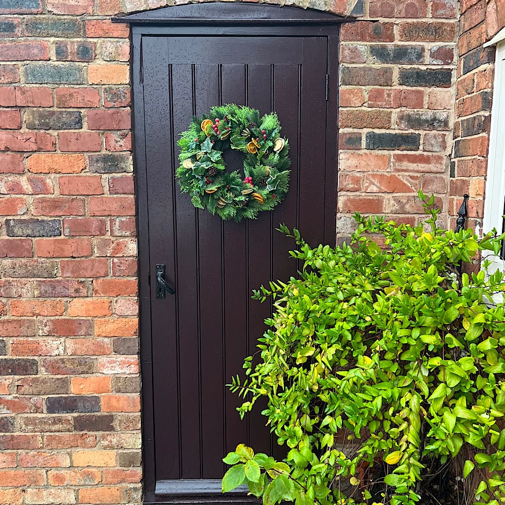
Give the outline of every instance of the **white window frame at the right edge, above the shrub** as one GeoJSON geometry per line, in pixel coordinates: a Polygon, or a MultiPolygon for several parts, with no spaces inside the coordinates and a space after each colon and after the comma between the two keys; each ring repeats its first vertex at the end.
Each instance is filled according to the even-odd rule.
{"type": "MultiPolygon", "coordinates": [[[[502,32],[484,45],[496,44],[496,60],[482,227],[484,233],[496,228],[498,234],[502,233],[505,201],[505,32],[502,32]]],[[[499,256],[491,253],[487,259],[493,262],[490,273],[505,270],[505,261],[499,256]]]]}

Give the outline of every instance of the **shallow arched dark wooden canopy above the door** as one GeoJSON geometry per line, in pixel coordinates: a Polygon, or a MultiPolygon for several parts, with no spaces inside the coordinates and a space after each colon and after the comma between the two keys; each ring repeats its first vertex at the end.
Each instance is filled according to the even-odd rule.
{"type": "Polygon", "coordinates": [[[130,24],[170,24],[170,25],[328,25],[354,18],[345,18],[336,14],[246,2],[189,4],[164,7],[154,11],[139,12],[130,16],[112,18],[113,23],[130,24]]]}

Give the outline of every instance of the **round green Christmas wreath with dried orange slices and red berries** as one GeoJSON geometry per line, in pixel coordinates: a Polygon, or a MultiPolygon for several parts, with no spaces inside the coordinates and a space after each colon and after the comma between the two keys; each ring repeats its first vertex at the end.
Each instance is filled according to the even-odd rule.
{"type": "Polygon", "coordinates": [[[260,119],[256,109],[237,105],[213,107],[194,117],[181,133],[176,177],[192,204],[221,218],[256,219],[284,198],[289,187],[288,142],[279,133],[275,112],[260,119]],[[244,154],[243,175],[226,171],[223,151],[244,154]]]}

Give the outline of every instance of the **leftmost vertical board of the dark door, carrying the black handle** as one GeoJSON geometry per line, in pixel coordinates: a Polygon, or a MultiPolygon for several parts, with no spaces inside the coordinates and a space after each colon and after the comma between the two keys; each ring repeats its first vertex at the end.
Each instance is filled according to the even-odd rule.
{"type": "MultiPolygon", "coordinates": [[[[149,216],[150,271],[157,263],[166,264],[166,279],[175,278],[174,224],[170,219],[164,223],[163,215],[174,214],[173,198],[177,192],[174,178],[167,170],[173,166],[173,138],[171,129],[170,75],[168,64],[168,39],[144,37],[142,40],[142,69],[144,80],[145,157],[147,170],[147,198],[149,216]],[[153,111],[157,111],[153,114],[153,111]],[[167,198],[168,196],[168,198],[167,198]],[[164,224],[163,230],[161,229],[164,224]]],[[[165,426],[173,437],[156,430],[157,477],[178,479],[179,473],[179,412],[177,379],[177,317],[176,298],[155,297],[154,274],[150,286],[151,335],[153,339],[153,369],[157,380],[153,384],[156,398],[154,406],[155,426],[165,426]],[[164,371],[164,372],[161,372],[164,371]],[[167,374],[166,381],[160,380],[167,374]],[[165,405],[171,405],[167,412],[165,405]]],[[[174,282],[178,291],[177,282],[174,282]]]]}

